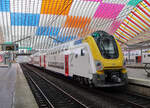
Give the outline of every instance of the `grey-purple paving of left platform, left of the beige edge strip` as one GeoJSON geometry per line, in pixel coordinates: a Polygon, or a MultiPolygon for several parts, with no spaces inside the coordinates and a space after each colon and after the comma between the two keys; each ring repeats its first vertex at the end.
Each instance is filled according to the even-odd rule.
{"type": "Polygon", "coordinates": [[[12,108],[15,92],[17,65],[12,68],[0,68],[0,108],[12,108]]]}

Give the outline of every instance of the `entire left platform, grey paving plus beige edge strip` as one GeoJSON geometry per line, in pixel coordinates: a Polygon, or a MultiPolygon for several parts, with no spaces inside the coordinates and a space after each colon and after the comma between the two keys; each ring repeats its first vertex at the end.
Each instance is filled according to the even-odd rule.
{"type": "Polygon", "coordinates": [[[19,64],[0,67],[0,108],[38,108],[19,64]]]}

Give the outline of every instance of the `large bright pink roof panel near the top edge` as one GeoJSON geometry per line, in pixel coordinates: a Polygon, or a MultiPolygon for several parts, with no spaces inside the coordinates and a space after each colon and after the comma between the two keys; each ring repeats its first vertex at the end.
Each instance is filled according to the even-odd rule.
{"type": "Polygon", "coordinates": [[[123,4],[101,3],[97,8],[94,17],[107,19],[116,18],[124,6],[125,5],[123,4]]]}

